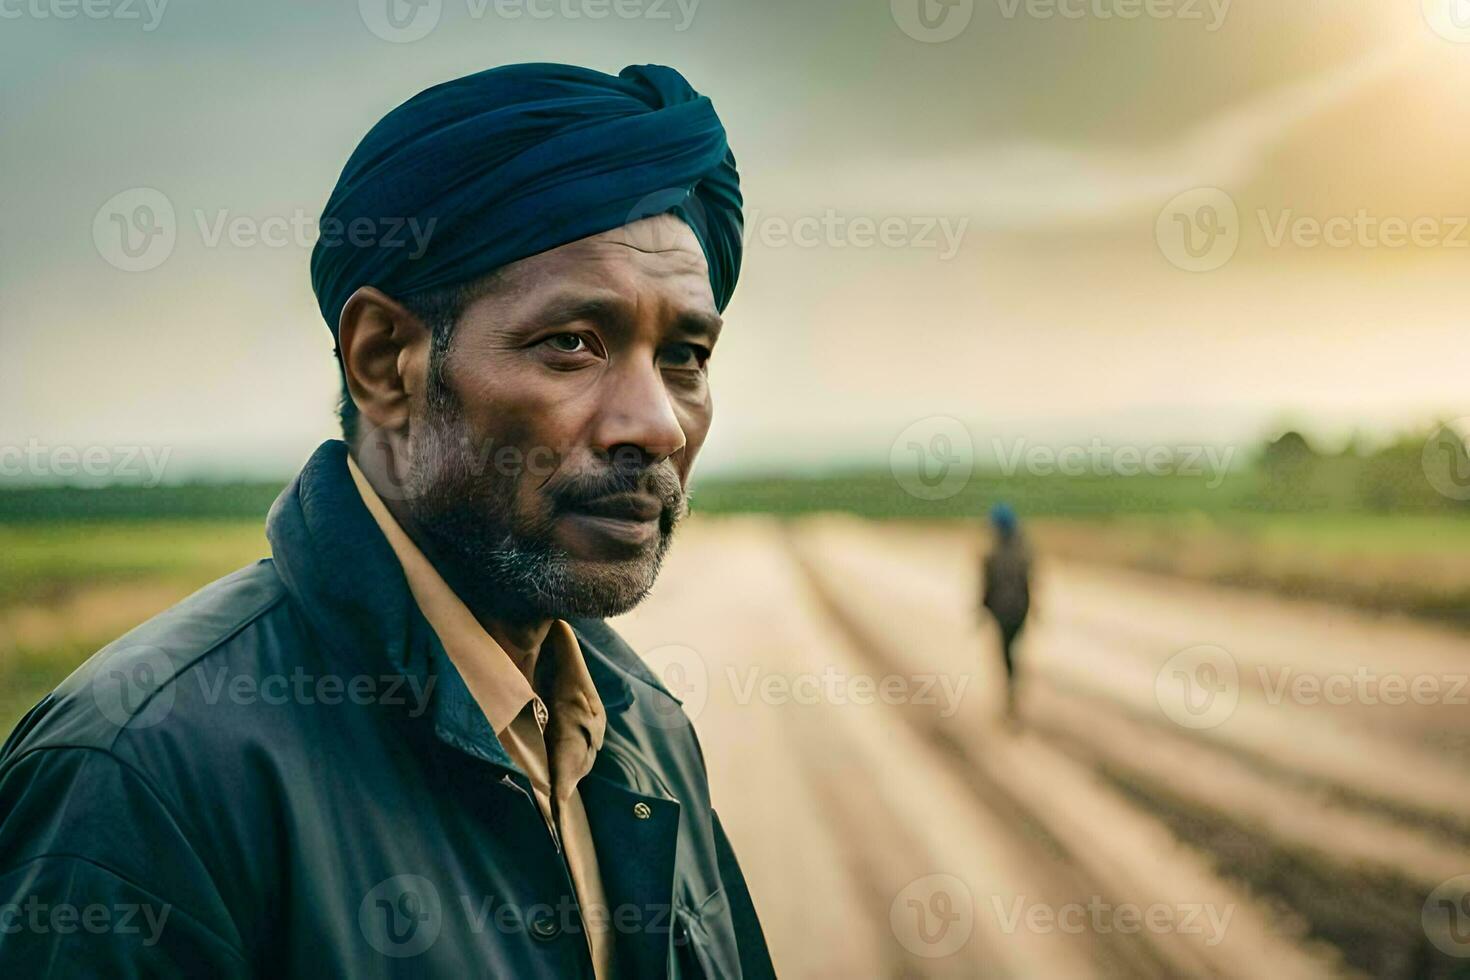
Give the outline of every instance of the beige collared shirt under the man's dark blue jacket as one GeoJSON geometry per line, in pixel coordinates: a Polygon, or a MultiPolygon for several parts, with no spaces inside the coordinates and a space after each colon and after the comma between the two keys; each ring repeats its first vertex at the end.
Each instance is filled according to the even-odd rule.
{"type": "Polygon", "coordinates": [[[576,790],[581,779],[591,771],[597,749],[603,746],[607,714],[592,686],[592,677],[587,673],[576,635],[564,620],[556,620],[539,652],[520,663],[512,660],[398,526],[351,457],[347,458],[347,469],[351,470],[363,504],[392,545],[409,589],[444,644],[444,652],[465,679],[465,686],[485,713],[510,758],[531,777],[537,807],[559,849],[566,855],[587,926],[592,967],[598,980],[610,980],[614,974],[607,895],[597,867],[587,810],[576,790]],[[538,657],[554,658],[548,667],[542,667],[548,689],[541,693],[531,683],[531,677],[538,674],[538,657]]]}

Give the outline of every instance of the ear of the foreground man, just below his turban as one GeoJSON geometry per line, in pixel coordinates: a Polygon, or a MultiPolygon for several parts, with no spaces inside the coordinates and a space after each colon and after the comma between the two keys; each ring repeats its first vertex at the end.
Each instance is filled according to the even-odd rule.
{"type": "Polygon", "coordinates": [[[401,303],[359,287],[343,307],[337,350],[357,411],[378,430],[407,430],[429,370],[429,329],[401,303]]]}

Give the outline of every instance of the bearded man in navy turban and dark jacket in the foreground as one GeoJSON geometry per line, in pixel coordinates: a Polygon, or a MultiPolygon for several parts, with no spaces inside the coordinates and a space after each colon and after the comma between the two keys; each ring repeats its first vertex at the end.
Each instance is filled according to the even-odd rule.
{"type": "Polygon", "coordinates": [[[684,513],[739,206],[660,66],[368,134],[312,257],[345,442],[270,560],[10,736],[0,974],[773,976],[688,718],[600,619],[684,513]]]}

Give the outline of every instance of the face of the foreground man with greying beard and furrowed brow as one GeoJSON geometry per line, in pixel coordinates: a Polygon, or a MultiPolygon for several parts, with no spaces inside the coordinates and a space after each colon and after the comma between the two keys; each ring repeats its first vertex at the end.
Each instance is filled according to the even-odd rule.
{"type": "Polygon", "coordinates": [[[409,433],[406,504],[466,598],[566,617],[648,592],[710,428],[719,329],[704,253],[669,215],[501,270],[409,433]]]}

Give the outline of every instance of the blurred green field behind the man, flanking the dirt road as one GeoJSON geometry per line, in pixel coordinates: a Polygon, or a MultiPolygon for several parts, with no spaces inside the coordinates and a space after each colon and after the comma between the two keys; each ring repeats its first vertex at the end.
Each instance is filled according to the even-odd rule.
{"type": "MultiPolygon", "coordinates": [[[[1330,479],[976,473],[939,501],[891,473],[698,480],[695,519],[845,511],[978,535],[998,500],[1044,560],[1113,564],[1470,629],[1470,507],[1413,466],[1324,458],[1330,479]],[[1367,467],[1367,469],[1366,469],[1367,467]],[[1374,482],[1377,480],[1377,482],[1374,482]],[[1369,505],[1372,504],[1372,505],[1369,505]]],[[[1417,463],[1414,464],[1417,466],[1417,463]]],[[[279,483],[0,491],[0,729],[76,663],[198,586],[269,554],[279,483]]]]}

